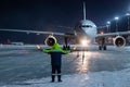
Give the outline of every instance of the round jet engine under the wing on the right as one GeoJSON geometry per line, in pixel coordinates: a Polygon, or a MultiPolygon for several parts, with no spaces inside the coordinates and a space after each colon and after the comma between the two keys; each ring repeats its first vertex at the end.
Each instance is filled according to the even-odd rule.
{"type": "Polygon", "coordinates": [[[117,36],[114,38],[114,45],[117,47],[123,47],[126,46],[126,39],[122,36],[117,36]]]}

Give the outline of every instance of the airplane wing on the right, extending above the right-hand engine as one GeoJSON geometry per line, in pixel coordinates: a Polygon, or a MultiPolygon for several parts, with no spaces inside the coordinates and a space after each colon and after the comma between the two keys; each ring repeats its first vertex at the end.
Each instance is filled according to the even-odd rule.
{"type": "Polygon", "coordinates": [[[107,34],[98,34],[96,37],[121,36],[121,35],[130,35],[130,30],[128,30],[128,32],[117,32],[117,33],[107,33],[107,34]]]}

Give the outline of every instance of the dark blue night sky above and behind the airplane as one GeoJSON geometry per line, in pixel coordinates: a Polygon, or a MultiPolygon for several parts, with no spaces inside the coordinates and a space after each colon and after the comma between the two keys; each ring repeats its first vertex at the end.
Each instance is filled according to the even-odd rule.
{"type": "MultiPolygon", "coordinates": [[[[69,32],[58,26],[74,27],[82,20],[83,1],[87,18],[98,26],[130,11],[130,0],[0,0],[0,28],[69,32]]],[[[0,42],[42,42],[37,38],[43,36],[0,32],[0,42]]]]}

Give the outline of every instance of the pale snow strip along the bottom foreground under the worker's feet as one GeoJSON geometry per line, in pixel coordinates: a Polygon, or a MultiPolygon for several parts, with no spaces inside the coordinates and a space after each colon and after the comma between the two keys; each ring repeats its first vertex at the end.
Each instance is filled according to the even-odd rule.
{"type": "Polygon", "coordinates": [[[62,76],[62,83],[50,83],[51,77],[30,79],[2,87],[130,87],[130,69],[116,72],[88,72],[62,76]]]}

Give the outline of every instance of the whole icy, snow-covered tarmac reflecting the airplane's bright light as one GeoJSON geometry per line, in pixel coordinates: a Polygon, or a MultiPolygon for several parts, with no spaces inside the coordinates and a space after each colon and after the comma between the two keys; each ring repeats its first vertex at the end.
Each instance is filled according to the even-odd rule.
{"type": "Polygon", "coordinates": [[[62,83],[50,83],[50,55],[31,47],[0,47],[0,87],[130,87],[130,47],[63,55],[62,83]]]}

